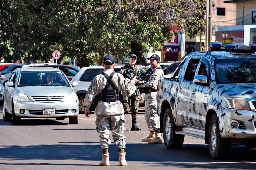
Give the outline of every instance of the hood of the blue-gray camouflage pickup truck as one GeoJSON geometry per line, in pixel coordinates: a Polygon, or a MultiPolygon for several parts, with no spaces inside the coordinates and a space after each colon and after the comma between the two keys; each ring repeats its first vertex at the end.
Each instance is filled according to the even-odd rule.
{"type": "Polygon", "coordinates": [[[221,95],[230,97],[256,98],[256,84],[218,84],[215,86],[221,95]]]}

